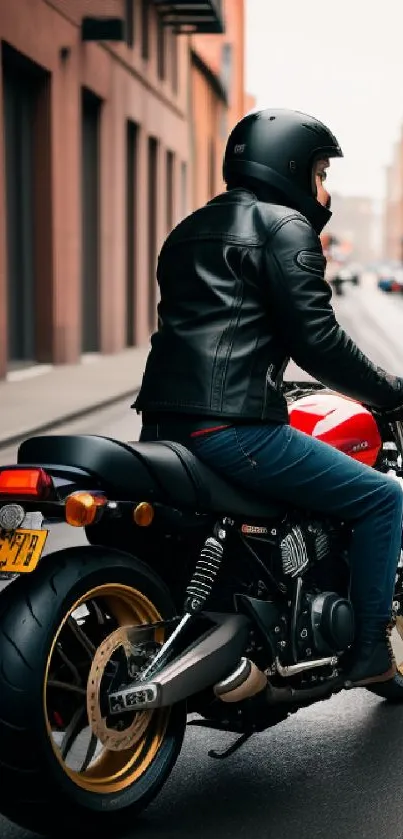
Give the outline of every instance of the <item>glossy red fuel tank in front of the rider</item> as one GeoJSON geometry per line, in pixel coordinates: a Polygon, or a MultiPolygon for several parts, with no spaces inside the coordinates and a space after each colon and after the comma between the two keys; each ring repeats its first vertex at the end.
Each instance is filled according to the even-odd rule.
{"type": "Polygon", "coordinates": [[[288,410],[294,428],[374,466],[382,440],[372,414],[359,402],[319,392],[297,399],[288,410]]]}

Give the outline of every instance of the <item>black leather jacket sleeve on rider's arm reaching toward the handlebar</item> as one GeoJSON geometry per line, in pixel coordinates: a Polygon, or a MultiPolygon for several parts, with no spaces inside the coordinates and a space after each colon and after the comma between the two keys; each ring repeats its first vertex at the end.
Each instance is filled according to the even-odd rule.
{"type": "Polygon", "coordinates": [[[320,240],[302,216],[266,242],[267,303],[287,354],[333,390],[375,408],[403,404],[403,379],[373,364],[338,324],[320,240]]]}

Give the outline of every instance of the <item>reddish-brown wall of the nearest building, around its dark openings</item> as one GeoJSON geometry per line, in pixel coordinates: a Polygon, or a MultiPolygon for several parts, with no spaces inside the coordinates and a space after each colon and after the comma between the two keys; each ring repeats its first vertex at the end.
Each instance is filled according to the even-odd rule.
{"type": "MultiPolygon", "coordinates": [[[[148,270],[147,159],[148,136],[159,140],[159,202],[157,243],[164,239],[165,153],[176,156],[175,220],[180,216],[180,163],[189,164],[187,74],[188,43],[178,39],[179,91],[173,91],[169,77],[157,74],[156,12],[151,6],[150,61],[141,57],[140,25],[132,49],[125,44],[84,44],[78,20],[83,11],[91,14],[118,13],[123,0],[13,0],[0,6],[0,40],[51,73],[51,250],[44,248],[38,265],[50,272],[51,311],[43,325],[50,334],[51,359],[74,362],[81,351],[81,88],[83,85],[102,100],[101,119],[101,349],[120,350],[125,345],[125,132],[126,120],[140,126],[136,250],[138,343],[148,339],[148,285],[155,281],[148,270]],[[33,31],[35,37],[33,37],[33,31]],[[70,52],[64,60],[62,47],[70,52]],[[51,263],[49,266],[49,262],[51,263]]],[[[134,4],[139,15],[139,4],[134,4]]],[[[173,38],[169,32],[167,39],[173,38]]],[[[3,104],[0,88],[0,123],[3,104]]],[[[0,124],[0,160],[3,131],[0,124]]],[[[0,375],[6,368],[6,271],[4,237],[6,214],[4,162],[0,163],[0,375]]]]}

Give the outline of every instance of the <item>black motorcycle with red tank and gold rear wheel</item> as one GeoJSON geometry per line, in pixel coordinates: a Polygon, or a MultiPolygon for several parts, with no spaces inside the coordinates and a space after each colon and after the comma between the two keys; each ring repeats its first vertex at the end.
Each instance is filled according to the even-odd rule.
{"type": "MultiPolygon", "coordinates": [[[[402,480],[401,422],[312,382],[285,392],[294,427],[402,480]]],[[[209,752],[224,760],[340,690],[350,535],[172,441],[23,442],[0,467],[0,813],[41,834],[116,835],[167,781],[187,725],[232,732],[209,752]],[[89,544],[43,554],[59,522],[89,544]]],[[[403,664],[368,690],[402,701],[403,664]]]]}

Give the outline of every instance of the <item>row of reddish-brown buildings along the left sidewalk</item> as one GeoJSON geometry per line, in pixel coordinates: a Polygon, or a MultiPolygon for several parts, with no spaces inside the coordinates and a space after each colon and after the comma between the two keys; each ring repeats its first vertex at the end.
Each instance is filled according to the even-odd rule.
{"type": "Polygon", "coordinates": [[[244,0],[0,5],[0,377],[143,344],[156,257],[221,189],[244,0]]]}

